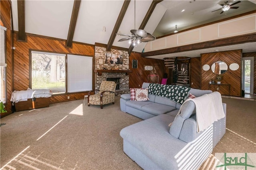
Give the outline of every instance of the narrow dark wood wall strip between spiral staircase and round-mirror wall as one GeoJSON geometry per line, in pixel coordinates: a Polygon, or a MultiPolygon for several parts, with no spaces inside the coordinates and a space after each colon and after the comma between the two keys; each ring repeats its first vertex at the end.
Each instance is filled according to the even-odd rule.
{"type": "Polygon", "coordinates": [[[201,89],[201,58],[190,59],[190,87],[201,89]]]}

